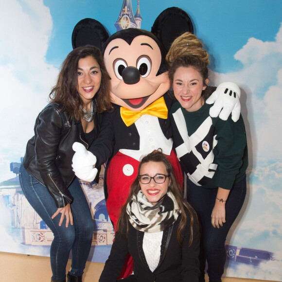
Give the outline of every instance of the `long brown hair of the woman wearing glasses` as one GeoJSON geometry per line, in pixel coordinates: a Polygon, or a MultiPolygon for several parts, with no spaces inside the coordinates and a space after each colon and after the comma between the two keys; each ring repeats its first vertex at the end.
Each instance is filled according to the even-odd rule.
{"type": "MultiPolygon", "coordinates": [[[[189,246],[191,246],[191,244],[193,242],[193,225],[194,225],[194,222],[196,222],[196,223],[198,222],[197,215],[196,215],[194,209],[191,207],[191,205],[183,199],[183,195],[182,195],[182,192],[181,192],[182,190],[181,190],[178,182],[176,181],[176,177],[175,177],[175,174],[174,174],[173,167],[172,167],[171,163],[169,162],[169,160],[166,158],[166,156],[159,150],[153,151],[152,153],[146,155],[145,157],[143,157],[141,159],[141,162],[140,162],[139,168],[138,168],[138,176],[136,177],[136,179],[132,183],[131,189],[130,189],[130,194],[127,198],[125,205],[122,207],[121,215],[120,215],[118,223],[117,223],[117,230],[120,230],[121,232],[127,232],[127,230],[128,230],[129,221],[128,221],[128,215],[126,213],[126,206],[131,201],[133,194],[137,194],[139,192],[139,190],[141,190],[141,187],[140,187],[140,184],[139,184],[139,176],[140,176],[141,166],[144,163],[147,163],[147,162],[150,162],[150,161],[161,162],[165,165],[167,174],[170,176],[170,179],[171,179],[171,184],[169,186],[169,190],[175,196],[177,205],[178,205],[178,207],[181,211],[181,213],[179,215],[180,216],[180,223],[179,223],[178,229],[177,229],[177,240],[181,244],[182,239],[183,239],[183,233],[184,233],[187,221],[188,221],[186,212],[188,212],[188,214],[190,215],[190,234],[191,234],[190,240],[189,240],[189,246]]],[[[197,224],[197,227],[198,227],[198,224],[197,224]]]]}

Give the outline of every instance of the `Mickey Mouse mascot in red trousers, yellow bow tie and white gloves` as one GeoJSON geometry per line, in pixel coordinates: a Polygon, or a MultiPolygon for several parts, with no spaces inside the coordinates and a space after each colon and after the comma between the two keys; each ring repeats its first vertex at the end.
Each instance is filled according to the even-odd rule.
{"type": "MultiPolygon", "coordinates": [[[[171,161],[179,183],[183,174],[173,150],[172,130],[168,111],[173,103],[167,91],[169,79],[165,54],[173,40],[182,32],[192,32],[189,16],[179,8],[168,8],[156,19],[152,32],[129,28],[108,37],[103,25],[93,19],[84,19],[74,28],[72,45],[92,44],[102,48],[106,69],[111,79],[112,112],[104,113],[99,137],[87,152],[82,144],[74,143],[73,170],[79,178],[92,181],[97,173],[95,165],[107,161],[105,172],[106,207],[116,226],[120,209],[137,176],[142,155],[158,148],[171,161]]],[[[238,91],[232,83],[212,94],[213,110],[227,119],[234,106],[240,113],[238,96],[224,93],[238,91]],[[217,97],[217,98],[216,98],[217,97]],[[216,108],[215,108],[216,107],[216,108]]],[[[211,93],[215,88],[209,88],[211,93]]],[[[234,113],[234,112],[233,112],[234,113]]],[[[235,114],[234,114],[235,116],[235,114]]],[[[124,275],[130,274],[129,272],[124,275]]]]}

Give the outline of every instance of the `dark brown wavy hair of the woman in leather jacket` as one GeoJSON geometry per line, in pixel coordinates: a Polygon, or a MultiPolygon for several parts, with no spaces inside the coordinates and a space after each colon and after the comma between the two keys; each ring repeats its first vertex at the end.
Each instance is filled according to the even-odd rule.
{"type": "Polygon", "coordinates": [[[62,105],[62,109],[65,109],[76,121],[83,115],[80,108],[83,106],[83,102],[77,92],[78,61],[88,56],[92,56],[97,61],[102,73],[101,85],[95,95],[97,111],[102,112],[113,108],[110,99],[109,75],[101,51],[91,45],[75,48],[63,61],[57,83],[52,88],[49,98],[51,102],[62,105]]]}

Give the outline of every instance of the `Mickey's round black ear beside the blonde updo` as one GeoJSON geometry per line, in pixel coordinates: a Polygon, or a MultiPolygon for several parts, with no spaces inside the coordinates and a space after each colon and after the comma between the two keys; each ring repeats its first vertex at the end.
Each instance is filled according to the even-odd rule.
{"type": "Polygon", "coordinates": [[[168,52],[176,37],[184,32],[194,33],[191,18],[186,12],[177,7],[167,8],[156,18],[151,32],[162,42],[168,52]]]}

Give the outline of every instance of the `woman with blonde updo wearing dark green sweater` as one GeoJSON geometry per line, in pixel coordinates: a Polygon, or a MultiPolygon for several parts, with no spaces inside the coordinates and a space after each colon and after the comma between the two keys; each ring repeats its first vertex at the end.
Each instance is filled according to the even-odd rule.
{"type": "MultiPolygon", "coordinates": [[[[173,140],[187,175],[187,200],[201,225],[200,282],[221,282],[226,261],[225,240],[246,196],[247,138],[242,116],[234,122],[210,116],[209,54],[189,33],[173,42],[167,61],[177,102],[170,110],[173,140]]],[[[239,88],[238,88],[239,89],[239,88]]],[[[227,88],[229,95],[235,92],[227,88]]]]}

